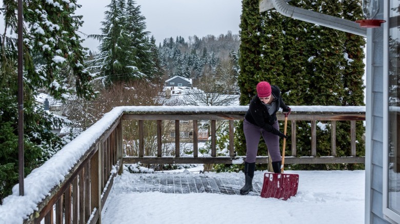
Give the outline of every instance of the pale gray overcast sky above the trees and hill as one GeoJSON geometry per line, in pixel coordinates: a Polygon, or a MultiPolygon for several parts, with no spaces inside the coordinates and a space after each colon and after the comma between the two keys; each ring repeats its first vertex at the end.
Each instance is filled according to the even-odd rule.
{"type": "MultiPolygon", "coordinates": [[[[85,21],[81,31],[99,34],[106,6],[110,0],[78,0],[82,7],[76,13],[85,21]]],[[[146,17],[147,31],[156,39],[158,46],[165,38],[182,36],[218,36],[232,31],[239,33],[241,0],[136,0],[146,17]]],[[[86,39],[84,47],[97,51],[98,41],[86,39]]]]}

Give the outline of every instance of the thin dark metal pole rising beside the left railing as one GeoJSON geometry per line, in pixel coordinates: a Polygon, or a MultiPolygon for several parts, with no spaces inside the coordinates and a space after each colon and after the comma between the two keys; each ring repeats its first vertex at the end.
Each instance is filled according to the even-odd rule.
{"type": "Polygon", "coordinates": [[[18,173],[19,195],[24,195],[24,83],[23,83],[23,6],[18,0],[18,173]]]}

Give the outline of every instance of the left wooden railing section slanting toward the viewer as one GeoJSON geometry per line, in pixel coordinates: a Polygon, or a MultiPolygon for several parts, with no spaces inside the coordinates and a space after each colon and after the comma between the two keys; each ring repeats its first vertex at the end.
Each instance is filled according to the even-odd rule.
{"type": "Polygon", "coordinates": [[[122,172],[122,148],[120,116],[91,144],[24,223],[97,223],[101,220],[113,178],[122,172]]]}

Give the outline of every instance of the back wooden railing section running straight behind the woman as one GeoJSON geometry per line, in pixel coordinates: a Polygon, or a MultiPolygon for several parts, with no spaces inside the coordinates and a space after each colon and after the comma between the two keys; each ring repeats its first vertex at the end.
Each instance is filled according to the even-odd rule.
{"type": "MultiPolygon", "coordinates": [[[[292,106],[292,113],[288,117],[291,121],[291,156],[286,156],[287,164],[329,164],[329,163],[365,163],[365,156],[356,156],[356,121],[365,120],[365,107],[336,107],[336,106],[292,106]],[[296,122],[309,121],[311,123],[311,153],[308,156],[297,157],[296,152],[296,122]],[[328,121],[331,126],[331,156],[317,156],[317,121],[328,121]],[[349,156],[336,156],[336,122],[350,121],[351,144],[349,156]]],[[[242,120],[247,111],[247,106],[239,107],[199,107],[193,110],[179,110],[171,108],[158,111],[127,111],[124,120],[137,120],[139,133],[143,133],[143,122],[146,120],[157,121],[157,155],[144,154],[143,135],[139,136],[138,156],[124,156],[124,164],[232,164],[244,161],[245,156],[235,156],[234,152],[234,120],[242,120]],[[162,147],[163,121],[175,120],[175,156],[164,156],[162,147]],[[193,121],[193,156],[180,156],[179,149],[179,121],[193,121]],[[197,121],[209,120],[211,126],[211,156],[198,156],[197,121]],[[229,155],[217,156],[216,152],[216,121],[229,121],[229,155]]],[[[283,120],[284,115],[278,113],[278,120],[283,120]]],[[[257,156],[256,163],[268,163],[268,156],[257,156]]]]}

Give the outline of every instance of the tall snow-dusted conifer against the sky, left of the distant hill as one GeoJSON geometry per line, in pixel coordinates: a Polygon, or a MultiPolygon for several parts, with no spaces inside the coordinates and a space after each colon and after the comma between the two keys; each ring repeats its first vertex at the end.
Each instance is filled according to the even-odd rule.
{"type": "Polygon", "coordinates": [[[99,69],[106,83],[153,79],[159,76],[154,58],[155,41],[145,31],[145,17],[133,0],[112,0],[107,6],[99,54],[92,69],[99,69]]]}

